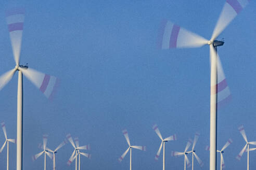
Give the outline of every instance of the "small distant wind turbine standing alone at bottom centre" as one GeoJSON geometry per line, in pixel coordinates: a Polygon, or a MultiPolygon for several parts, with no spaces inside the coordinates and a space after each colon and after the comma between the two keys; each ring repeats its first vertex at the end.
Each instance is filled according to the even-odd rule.
{"type": "Polygon", "coordinates": [[[118,160],[119,160],[119,162],[121,162],[124,159],[125,155],[130,150],[130,170],[132,170],[132,148],[146,151],[146,146],[131,146],[127,130],[125,129],[122,132],[123,132],[123,135],[127,141],[127,144],[129,145],[129,147],[128,147],[128,149],[126,149],[126,151],[121,155],[121,157],[118,160]]]}

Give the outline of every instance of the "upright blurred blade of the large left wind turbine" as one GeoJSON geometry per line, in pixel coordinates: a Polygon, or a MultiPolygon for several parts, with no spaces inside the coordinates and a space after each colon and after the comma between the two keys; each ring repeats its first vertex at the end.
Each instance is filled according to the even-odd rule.
{"type": "Polygon", "coordinates": [[[8,31],[10,34],[12,52],[14,53],[14,60],[16,65],[19,65],[20,59],[24,14],[24,9],[12,9],[6,11],[8,31]]]}

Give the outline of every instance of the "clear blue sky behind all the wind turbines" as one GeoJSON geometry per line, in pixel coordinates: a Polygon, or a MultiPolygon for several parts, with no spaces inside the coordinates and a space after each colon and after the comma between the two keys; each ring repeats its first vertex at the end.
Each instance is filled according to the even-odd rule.
{"type": "MultiPolygon", "coordinates": [[[[158,50],[156,40],[162,19],[209,39],[225,1],[8,1],[0,6],[0,74],[15,66],[5,10],[26,10],[21,64],[54,75],[61,80],[55,100],[50,102],[27,79],[23,80],[24,132],[23,169],[43,169],[37,144],[49,134],[47,146],[56,148],[67,133],[79,137],[80,145],[91,144],[92,159],[82,158],[82,169],[129,169],[129,154],[123,129],[133,145],[133,169],[161,169],[162,152],[154,160],[160,139],[152,130],[157,123],[163,137],[177,134],[166,146],[166,168],[183,169],[182,157],[188,137],[200,137],[196,152],[209,168],[210,67],[209,47],[158,50]]],[[[217,148],[232,138],[224,153],[227,169],[245,169],[247,156],[235,159],[246,144],[237,127],[244,124],[249,141],[256,140],[256,3],[242,10],[219,36],[218,49],[233,100],[218,113],[217,148]]],[[[7,135],[16,137],[17,74],[0,92],[0,120],[7,135]]],[[[0,131],[0,145],[4,133],[0,131]]],[[[56,155],[58,169],[66,165],[70,144],[56,155]]],[[[191,155],[190,155],[191,156],[191,155]]],[[[191,161],[191,157],[189,159],[191,161]]],[[[11,170],[16,169],[16,146],[10,144],[11,170]]],[[[256,152],[250,152],[250,168],[256,168],[256,152]]],[[[49,162],[48,169],[52,167],[49,162]]],[[[220,161],[218,155],[217,161],[220,161]]],[[[6,149],[0,154],[6,167],[6,149]]],[[[219,162],[217,167],[219,168],[219,162]]],[[[195,163],[195,169],[199,169],[195,163]]]]}

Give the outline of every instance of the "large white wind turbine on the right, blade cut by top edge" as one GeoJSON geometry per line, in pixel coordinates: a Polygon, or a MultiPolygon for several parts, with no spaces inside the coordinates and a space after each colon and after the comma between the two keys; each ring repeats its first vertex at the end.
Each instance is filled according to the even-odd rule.
{"type": "Polygon", "coordinates": [[[223,46],[224,42],[216,40],[216,38],[248,3],[249,0],[226,0],[210,40],[191,33],[170,21],[164,21],[162,31],[159,34],[159,46],[161,49],[210,46],[210,170],[216,169],[217,105],[219,107],[231,98],[219,55],[217,55],[217,47],[223,46]]]}

